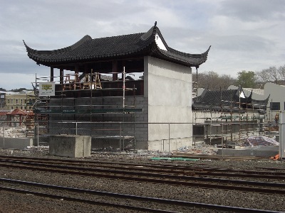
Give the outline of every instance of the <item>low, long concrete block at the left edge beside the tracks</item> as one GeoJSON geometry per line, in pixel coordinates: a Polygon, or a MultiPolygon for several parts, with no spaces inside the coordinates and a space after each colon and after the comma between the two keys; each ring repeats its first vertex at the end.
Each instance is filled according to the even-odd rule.
{"type": "Polygon", "coordinates": [[[0,148],[24,149],[33,146],[33,138],[0,138],[0,148]]]}

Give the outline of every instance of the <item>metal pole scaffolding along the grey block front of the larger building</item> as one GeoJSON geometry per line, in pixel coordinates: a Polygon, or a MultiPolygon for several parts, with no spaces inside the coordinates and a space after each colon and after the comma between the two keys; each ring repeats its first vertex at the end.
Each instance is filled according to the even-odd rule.
{"type": "MultiPolygon", "coordinates": [[[[125,67],[123,72],[116,72],[122,75],[121,80],[103,78],[113,73],[91,69],[81,75],[52,77],[53,80],[60,78],[59,83],[53,81],[56,90],[53,96],[40,96],[38,93],[40,83],[48,82],[51,77],[36,77],[33,82],[36,91],[33,109],[35,122],[39,125],[35,126],[38,128],[35,132],[41,137],[51,134],[90,135],[96,143],[109,141],[120,151],[125,150],[127,143],[135,146],[135,117],[142,112],[142,108],[136,107],[135,86],[136,82],[143,84],[143,80],[126,80],[125,67]],[[133,87],[130,87],[132,83],[133,87]],[[130,124],[125,124],[127,122],[130,124]]],[[[128,72],[128,75],[132,74],[128,72]]],[[[93,148],[100,149],[103,145],[94,145],[93,148]]]]}

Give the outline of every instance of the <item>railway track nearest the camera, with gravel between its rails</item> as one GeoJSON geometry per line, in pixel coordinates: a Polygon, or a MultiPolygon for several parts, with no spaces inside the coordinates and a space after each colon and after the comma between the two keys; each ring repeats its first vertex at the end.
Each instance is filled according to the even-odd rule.
{"type": "Polygon", "coordinates": [[[190,209],[197,209],[203,212],[203,209],[216,210],[218,212],[272,212],[264,209],[250,209],[243,207],[232,207],[217,204],[207,204],[200,202],[186,202],[182,200],[169,200],[157,197],[143,197],[137,195],[125,195],[111,192],[102,192],[96,190],[79,189],[76,187],[63,187],[59,185],[48,185],[37,182],[26,182],[22,180],[11,180],[0,178],[1,190],[9,192],[24,193],[28,195],[36,195],[48,197],[57,200],[68,200],[72,202],[83,202],[94,205],[103,205],[120,209],[135,210],[138,212],[177,212],[179,206],[180,212],[189,212],[190,209]],[[6,185],[5,185],[6,184],[6,185]],[[25,186],[25,188],[23,188],[25,186]],[[71,192],[71,193],[67,193],[71,192]],[[105,197],[112,197],[115,200],[105,202],[105,197]],[[130,204],[125,204],[126,200],[131,201],[130,204]],[[156,208],[150,208],[156,207],[156,208]],[[160,208],[157,208],[160,207],[160,208]]]}

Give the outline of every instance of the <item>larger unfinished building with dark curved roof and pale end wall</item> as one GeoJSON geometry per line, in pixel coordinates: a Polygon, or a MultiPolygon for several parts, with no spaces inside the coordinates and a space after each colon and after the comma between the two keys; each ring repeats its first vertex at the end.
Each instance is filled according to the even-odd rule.
{"type": "MultiPolygon", "coordinates": [[[[156,23],[145,33],[105,38],[86,35],[58,50],[33,50],[25,42],[24,45],[29,58],[50,67],[51,82],[54,69],[60,70],[59,83],[55,82],[56,95],[51,97],[48,110],[36,109],[36,113],[46,113],[53,121],[50,134],[66,133],[66,129],[72,134],[72,122],[88,121],[90,124],[76,133],[91,134],[100,147],[108,146],[103,140],[107,136],[113,141],[118,135],[122,138],[123,133],[133,137],[129,141],[133,148],[162,150],[160,144],[169,136],[162,123],[192,123],[192,67],[198,68],[207,60],[209,48],[199,54],[170,48],[156,23]],[[64,70],[74,72],[74,78],[64,75],[64,70]],[[103,75],[111,80],[103,79],[103,75]],[[59,121],[68,121],[64,125],[69,126],[59,121]],[[100,124],[92,124],[97,121],[100,124]],[[146,124],[129,125],[122,130],[115,121],[146,124]],[[102,131],[103,139],[98,138],[102,131]]],[[[169,147],[190,145],[191,128],[173,127],[169,147]]],[[[112,143],[116,148],[118,144],[112,143]]]]}

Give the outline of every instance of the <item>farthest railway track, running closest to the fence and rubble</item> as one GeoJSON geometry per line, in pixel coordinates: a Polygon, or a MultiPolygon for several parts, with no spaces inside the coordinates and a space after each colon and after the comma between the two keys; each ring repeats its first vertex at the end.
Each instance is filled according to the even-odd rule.
{"type": "Polygon", "coordinates": [[[95,166],[101,168],[113,168],[120,170],[145,170],[149,172],[153,170],[156,173],[173,173],[173,174],[195,174],[196,176],[224,176],[224,177],[240,177],[240,178],[260,178],[263,175],[264,178],[269,179],[284,179],[285,172],[276,172],[275,170],[285,170],[281,168],[259,168],[261,170],[234,170],[234,169],[224,169],[224,168],[205,168],[203,163],[195,164],[195,166],[180,166],[180,165],[161,165],[161,164],[147,164],[147,163],[121,163],[121,162],[105,162],[104,160],[56,160],[49,158],[22,158],[22,157],[11,157],[11,156],[0,156],[0,160],[4,159],[18,159],[21,161],[36,162],[36,163],[51,163],[51,164],[61,164],[61,165],[84,165],[84,166],[95,166]],[[202,165],[199,167],[197,165],[202,165]],[[274,170],[274,171],[269,171],[274,170]]]}

